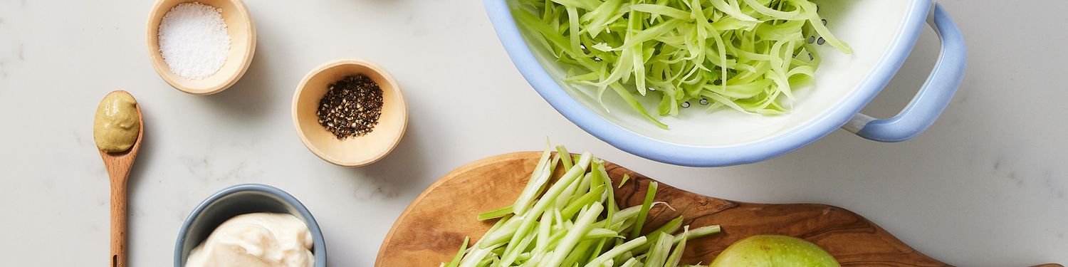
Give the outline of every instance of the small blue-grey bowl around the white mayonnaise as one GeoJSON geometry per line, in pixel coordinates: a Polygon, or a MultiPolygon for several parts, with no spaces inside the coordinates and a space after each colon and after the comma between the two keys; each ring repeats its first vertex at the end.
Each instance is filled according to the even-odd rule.
{"type": "Polygon", "coordinates": [[[247,184],[211,194],[189,214],[189,218],[178,231],[178,240],[174,246],[174,267],[185,265],[189,252],[207,239],[219,224],[234,216],[251,213],[290,214],[304,221],[314,239],[312,254],[315,255],[315,266],[327,266],[326,241],[323,240],[323,232],[315,223],[312,213],[282,189],[247,184]]]}

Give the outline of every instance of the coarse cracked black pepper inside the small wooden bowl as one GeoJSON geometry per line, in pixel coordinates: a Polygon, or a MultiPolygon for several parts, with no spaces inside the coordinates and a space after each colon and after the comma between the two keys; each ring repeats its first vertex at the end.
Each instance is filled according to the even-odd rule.
{"type": "Polygon", "coordinates": [[[382,89],[367,76],[345,76],[330,84],[315,114],[337,139],[367,135],[382,114],[382,89]]]}

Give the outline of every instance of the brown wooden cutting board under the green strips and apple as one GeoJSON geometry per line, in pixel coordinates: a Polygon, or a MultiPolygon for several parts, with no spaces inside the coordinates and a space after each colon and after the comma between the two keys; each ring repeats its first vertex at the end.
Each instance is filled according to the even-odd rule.
{"type": "MultiPolygon", "coordinates": [[[[480,213],[511,205],[519,195],[540,157],[522,152],[468,163],[430,185],[393,224],[382,241],[375,266],[438,266],[452,260],[465,236],[474,242],[494,220],[480,222],[480,213]]],[[[615,190],[619,207],[641,205],[653,182],[623,167],[607,163],[615,185],[624,174],[630,182],[615,190]]],[[[557,170],[559,176],[562,171],[557,170]]],[[[723,232],[687,242],[682,263],[711,263],[738,239],[775,234],[804,238],[819,245],[843,266],[948,266],[905,245],[863,217],[818,204],[741,203],[691,193],[660,184],[657,205],[644,231],[685,216],[684,225],[719,224],[723,232]]],[[[645,233],[645,232],[643,232],[645,233]]],[[[1061,266],[1056,264],[1041,266],[1061,266]]]]}

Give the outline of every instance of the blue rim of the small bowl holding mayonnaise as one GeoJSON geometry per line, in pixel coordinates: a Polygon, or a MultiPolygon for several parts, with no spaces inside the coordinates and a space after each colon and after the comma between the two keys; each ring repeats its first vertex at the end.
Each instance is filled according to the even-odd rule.
{"type": "Polygon", "coordinates": [[[286,203],[288,203],[289,205],[293,205],[293,207],[295,207],[297,209],[297,211],[300,213],[300,216],[304,217],[304,220],[305,220],[304,224],[308,224],[308,231],[312,232],[312,236],[314,237],[313,241],[314,241],[315,248],[321,248],[321,249],[313,249],[313,251],[319,250],[319,251],[317,251],[317,253],[315,253],[315,266],[316,267],[327,266],[327,263],[326,263],[327,247],[326,247],[326,240],[323,239],[323,231],[319,230],[318,222],[315,222],[315,217],[312,217],[312,213],[308,210],[308,207],[304,207],[304,204],[301,204],[300,201],[297,200],[297,198],[294,198],[292,194],[283,191],[282,189],[278,189],[276,187],[268,186],[268,185],[244,184],[244,185],[236,185],[236,186],[227,187],[225,189],[219,190],[218,192],[211,194],[211,197],[208,197],[203,202],[201,202],[199,205],[197,205],[197,208],[193,208],[193,211],[189,214],[189,217],[186,217],[186,221],[184,223],[182,223],[182,229],[178,230],[178,238],[177,238],[177,241],[174,245],[174,266],[175,267],[180,267],[182,266],[182,260],[184,260],[184,258],[182,258],[182,244],[186,239],[186,234],[189,232],[189,226],[192,225],[193,218],[197,218],[198,216],[200,216],[200,214],[202,211],[204,211],[204,208],[206,208],[211,203],[215,203],[219,199],[222,199],[223,197],[226,197],[226,195],[230,195],[230,194],[236,193],[236,192],[241,192],[241,191],[261,191],[261,192],[266,192],[266,193],[279,197],[282,200],[284,200],[286,203]]]}

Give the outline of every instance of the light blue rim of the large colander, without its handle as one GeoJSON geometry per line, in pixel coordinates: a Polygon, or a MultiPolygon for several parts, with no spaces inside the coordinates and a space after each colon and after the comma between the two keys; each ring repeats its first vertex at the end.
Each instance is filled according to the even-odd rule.
{"type": "Polygon", "coordinates": [[[932,0],[910,0],[904,26],[890,49],[867,77],[838,105],[785,134],[758,142],[725,147],[679,145],[638,135],[609,122],[571,97],[545,70],[523,40],[506,0],[485,0],[486,12],[501,44],[519,73],[556,111],[594,137],[627,153],[677,166],[724,167],[748,164],[790,153],[845,125],[875,98],[900,69],[924,29],[932,0]]]}

